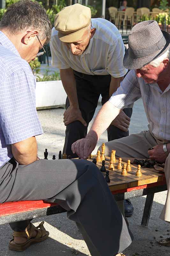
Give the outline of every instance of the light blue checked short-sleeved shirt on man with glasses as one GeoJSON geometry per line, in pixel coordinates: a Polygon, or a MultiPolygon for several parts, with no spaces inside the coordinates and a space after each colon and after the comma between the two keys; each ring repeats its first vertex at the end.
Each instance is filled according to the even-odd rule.
{"type": "Polygon", "coordinates": [[[42,134],[35,105],[36,81],[26,60],[0,31],[0,166],[11,144],[42,134]]]}

